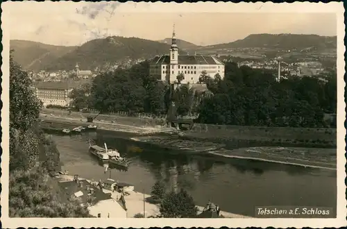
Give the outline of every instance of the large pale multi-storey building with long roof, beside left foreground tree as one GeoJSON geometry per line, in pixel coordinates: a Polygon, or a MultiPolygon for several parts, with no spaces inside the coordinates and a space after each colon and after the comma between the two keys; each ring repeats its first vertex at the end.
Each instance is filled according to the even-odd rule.
{"type": "Polygon", "coordinates": [[[69,93],[76,87],[76,83],[65,82],[38,82],[35,85],[35,94],[44,106],[69,106],[69,93]]]}

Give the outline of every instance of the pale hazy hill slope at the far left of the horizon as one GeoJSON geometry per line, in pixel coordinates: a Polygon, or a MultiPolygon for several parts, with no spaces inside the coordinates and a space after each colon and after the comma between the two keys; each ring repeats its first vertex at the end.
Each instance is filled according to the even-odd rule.
{"type": "Polygon", "coordinates": [[[76,48],[77,46],[56,46],[28,40],[10,40],[10,49],[14,50],[13,58],[22,65],[23,69],[38,70],[76,48]]]}

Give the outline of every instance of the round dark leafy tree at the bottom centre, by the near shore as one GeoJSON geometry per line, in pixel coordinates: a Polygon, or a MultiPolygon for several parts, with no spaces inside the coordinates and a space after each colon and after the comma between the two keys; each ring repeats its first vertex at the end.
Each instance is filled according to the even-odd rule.
{"type": "Polygon", "coordinates": [[[164,218],[194,218],[197,211],[192,196],[183,189],[177,194],[170,192],[160,203],[160,214],[164,218]]]}

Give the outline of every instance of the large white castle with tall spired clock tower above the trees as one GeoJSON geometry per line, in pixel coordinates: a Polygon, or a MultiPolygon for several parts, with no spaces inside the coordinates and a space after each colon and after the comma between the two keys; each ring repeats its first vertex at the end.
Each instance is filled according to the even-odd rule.
{"type": "Polygon", "coordinates": [[[202,72],[214,78],[219,74],[224,77],[224,64],[214,56],[180,55],[176,44],[175,29],[172,33],[170,55],[157,56],[150,62],[149,74],[164,83],[177,82],[177,76],[183,74],[180,83],[198,83],[202,72]]]}

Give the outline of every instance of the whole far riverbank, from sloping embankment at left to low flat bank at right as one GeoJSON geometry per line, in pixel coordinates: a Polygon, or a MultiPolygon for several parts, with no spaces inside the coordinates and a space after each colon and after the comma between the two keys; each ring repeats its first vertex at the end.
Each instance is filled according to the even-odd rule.
{"type": "MultiPolygon", "coordinates": [[[[71,126],[85,126],[83,120],[67,117],[44,116],[44,128],[71,128],[71,126]]],[[[179,134],[175,128],[151,128],[139,125],[124,125],[95,121],[94,124],[101,130],[135,133],[137,135],[153,135],[157,133],[170,133],[167,137],[139,136],[130,139],[142,144],[157,146],[158,149],[180,150],[199,155],[214,155],[221,158],[239,158],[245,160],[258,160],[264,162],[276,162],[280,164],[292,164],[301,167],[312,167],[336,170],[336,148],[307,148],[302,145],[296,147],[281,142],[257,142],[229,140],[223,142],[212,141],[210,138],[190,138],[189,134],[179,134]],[[174,135],[173,135],[174,134],[174,135]],[[280,145],[281,147],[278,147],[280,145]],[[300,147],[301,146],[301,147],[300,147]]],[[[304,145],[305,146],[305,145],[304,145]]]]}

